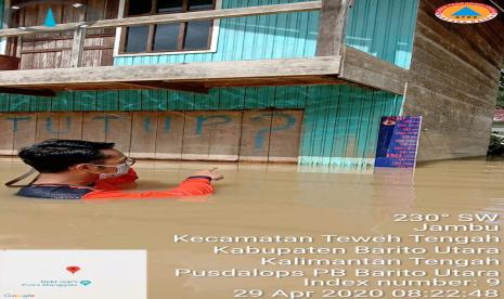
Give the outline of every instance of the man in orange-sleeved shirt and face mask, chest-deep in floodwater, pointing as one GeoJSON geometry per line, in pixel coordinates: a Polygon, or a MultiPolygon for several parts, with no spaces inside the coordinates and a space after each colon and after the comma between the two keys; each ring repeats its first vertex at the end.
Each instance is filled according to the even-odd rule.
{"type": "MultiPolygon", "coordinates": [[[[21,148],[18,156],[40,174],[16,194],[55,199],[163,198],[207,195],[210,184],[223,176],[203,170],[167,191],[125,192],[135,186],[134,160],[114,148],[114,143],[81,140],[47,140],[21,148]]],[[[11,181],[12,182],[12,181],[11,181]]],[[[9,184],[9,183],[8,183],[9,184]]]]}

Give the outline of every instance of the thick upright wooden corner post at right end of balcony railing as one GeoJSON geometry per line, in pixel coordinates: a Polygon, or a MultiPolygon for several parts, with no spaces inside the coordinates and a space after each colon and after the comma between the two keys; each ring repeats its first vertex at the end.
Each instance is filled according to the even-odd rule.
{"type": "Polygon", "coordinates": [[[318,56],[343,56],[348,8],[352,0],[322,0],[318,56]]]}

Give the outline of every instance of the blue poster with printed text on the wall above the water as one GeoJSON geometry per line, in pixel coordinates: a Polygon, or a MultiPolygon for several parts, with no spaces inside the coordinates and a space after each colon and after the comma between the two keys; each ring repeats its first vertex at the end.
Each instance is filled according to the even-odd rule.
{"type": "Polygon", "coordinates": [[[384,116],[375,167],[415,168],[422,116],[384,116]]]}

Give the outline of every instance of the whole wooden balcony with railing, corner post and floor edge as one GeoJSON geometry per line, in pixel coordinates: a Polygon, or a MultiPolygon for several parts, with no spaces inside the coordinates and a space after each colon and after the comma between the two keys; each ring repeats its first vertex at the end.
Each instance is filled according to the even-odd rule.
{"type": "Polygon", "coordinates": [[[9,28],[0,37],[74,30],[68,68],[0,72],[0,92],[54,95],[59,91],[175,89],[208,92],[218,87],[352,83],[403,94],[409,72],[344,43],[347,0],[324,0],[243,9],[164,14],[60,24],[47,28],[9,28]],[[321,10],[316,56],[185,64],[80,67],[88,29],[321,10]]]}

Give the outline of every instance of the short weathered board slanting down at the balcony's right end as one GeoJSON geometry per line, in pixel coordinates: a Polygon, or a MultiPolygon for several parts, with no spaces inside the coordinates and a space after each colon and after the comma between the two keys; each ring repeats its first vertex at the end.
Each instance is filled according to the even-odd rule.
{"type": "Polygon", "coordinates": [[[348,46],[345,53],[338,78],[396,94],[404,93],[404,86],[411,77],[409,69],[348,46]]]}

